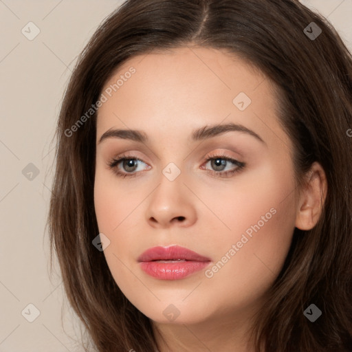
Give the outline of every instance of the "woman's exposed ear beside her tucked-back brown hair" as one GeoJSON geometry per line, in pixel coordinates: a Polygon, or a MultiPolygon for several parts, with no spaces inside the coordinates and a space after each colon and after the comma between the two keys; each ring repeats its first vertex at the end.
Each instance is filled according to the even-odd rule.
{"type": "Polygon", "coordinates": [[[307,173],[307,184],[301,190],[296,212],[296,228],[314,228],[327,197],[327,177],[322,166],[314,162],[307,173]]]}

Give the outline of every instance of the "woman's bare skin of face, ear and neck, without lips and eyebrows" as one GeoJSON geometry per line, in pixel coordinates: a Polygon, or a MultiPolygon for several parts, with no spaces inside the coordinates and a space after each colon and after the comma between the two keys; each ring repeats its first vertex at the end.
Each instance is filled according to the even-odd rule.
{"type": "MultiPolygon", "coordinates": [[[[94,202],[99,230],[110,240],[104,255],[111,274],[153,320],[160,352],[253,351],[247,343],[252,316],[283,267],[295,226],[308,230],[318,221],[324,171],[315,163],[298,193],[292,142],[278,123],[273,86],[241,58],[202,47],[135,56],[113,72],[104,89],[131,66],[135,74],[102,104],[97,119],[94,202]],[[240,92],[252,100],[243,111],[232,102],[240,92]],[[240,131],[190,140],[195,129],[228,122],[251,129],[264,143],[240,131]],[[111,137],[99,143],[111,128],[143,131],[149,141],[111,137]],[[122,153],[142,160],[132,172],[137,177],[118,177],[109,168],[122,153]],[[224,171],[205,159],[221,154],[245,167],[228,177],[212,175],[224,171]],[[181,172],[173,181],[162,173],[170,162],[181,172]],[[206,269],[272,208],[271,219],[206,277],[206,269]],[[177,281],[140,269],[142,252],[175,244],[212,263],[177,281]],[[163,314],[170,304],[179,313],[173,321],[163,314]]],[[[122,173],[131,170],[124,167],[116,166],[122,173]]],[[[228,162],[225,170],[236,167],[228,162]]]]}

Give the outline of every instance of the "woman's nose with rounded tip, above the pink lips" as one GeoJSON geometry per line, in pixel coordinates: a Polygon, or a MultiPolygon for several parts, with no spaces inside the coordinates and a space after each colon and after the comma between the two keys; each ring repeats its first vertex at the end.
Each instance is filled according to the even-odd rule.
{"type": "Polygon", "coordinates": [[[146,219],[153,228],[188,227],[197,220],[195,196],[181,175],[173,181],[162,175],[159,186],[148,199],[146,219]]]}

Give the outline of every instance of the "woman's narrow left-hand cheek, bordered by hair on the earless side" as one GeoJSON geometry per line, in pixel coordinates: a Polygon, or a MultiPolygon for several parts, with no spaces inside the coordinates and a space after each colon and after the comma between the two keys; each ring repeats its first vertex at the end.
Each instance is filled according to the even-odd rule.
{"type": "Polygon", "coordinates": [[[111,275],[125,296],[137,304],[131,292],[140,282],[135,275],[131,275],[131,269],[135,270],[133,248],[138,239],[131,233],[136,232],[133,228],[140,223],[142,214],[138,205],[146,195],[143,197],[141,192],[133,192],[119,182],[113,173],[110,175],[106,170],[97,169],[94,206],[99,232],[110,240],[104,256],[111,275]]]}

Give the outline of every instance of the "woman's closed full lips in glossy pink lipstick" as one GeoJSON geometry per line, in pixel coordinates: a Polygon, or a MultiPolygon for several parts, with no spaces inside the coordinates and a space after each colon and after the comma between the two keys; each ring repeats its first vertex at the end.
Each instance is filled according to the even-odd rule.
{"type": "Polygon", "coordinates": [[[209,258],[179,245],[149,248],[137,261],[146,274],[160,280],[185,278],[210,263],[209,258]]]}

